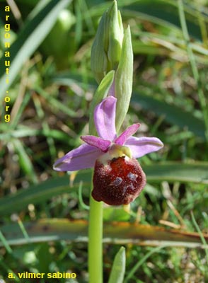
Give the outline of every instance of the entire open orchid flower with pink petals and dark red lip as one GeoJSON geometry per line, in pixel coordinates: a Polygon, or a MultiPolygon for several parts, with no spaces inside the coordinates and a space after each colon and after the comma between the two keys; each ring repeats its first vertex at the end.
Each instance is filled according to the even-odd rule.
{"type": "Polygon", "coordinates": [[[132,137],[139,124],[127,127],[117,137],[116,103],[117,98],[108,96],[96,106],[94,122],[99,137],[81,136],[85,144],[54,163],[57,171],[95,168],[93,198],[111,205],[129,204],[139,195],[146,176],[136,158],[163,147],[156,137],[132,137]]]}

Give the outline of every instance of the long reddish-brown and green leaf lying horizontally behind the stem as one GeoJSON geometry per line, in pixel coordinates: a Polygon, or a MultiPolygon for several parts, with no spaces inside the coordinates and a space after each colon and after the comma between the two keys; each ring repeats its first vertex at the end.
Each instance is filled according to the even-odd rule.
{"type": "MultiPolygon", "coordinates": [[[[69,219],[41,219],[23,223],[31,243],[45,241],[88,241],[88,221],[69,219]]],[[[1,226],[1,232],[10,246],[28,244],[18,224],[1,226]]],[[[184,246],[206,248],[199,233],[165,229],[161,226],[135,224],[129,222],[104,222],[103,242],[134,243],[141,246],[184,246]]],[[[207,241],[207,234],[203,233],[207,241]]],[[[0,242],[0,246],[4,246],[0,242]]]]}

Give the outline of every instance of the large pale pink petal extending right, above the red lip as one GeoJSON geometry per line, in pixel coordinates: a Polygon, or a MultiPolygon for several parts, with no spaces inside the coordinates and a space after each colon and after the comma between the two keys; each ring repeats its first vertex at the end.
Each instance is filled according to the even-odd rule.
{"type": "Polygon", "coordinates": [[[132,150],[134,158],[139,158],[145,154],[158,151],[163,147],[163,143],[156,137],[129,137],[125,146],[132,150]]]}

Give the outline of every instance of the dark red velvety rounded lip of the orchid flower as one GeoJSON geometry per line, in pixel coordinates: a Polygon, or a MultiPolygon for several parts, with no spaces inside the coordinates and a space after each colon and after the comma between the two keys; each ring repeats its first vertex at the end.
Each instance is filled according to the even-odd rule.
{"type": "Polygon", "coordinates": [[[105,165],[96,161],[92,196],[110,205],[129,204],[146,185],[146,175],[135,158],[112,158],[105,165]]]}

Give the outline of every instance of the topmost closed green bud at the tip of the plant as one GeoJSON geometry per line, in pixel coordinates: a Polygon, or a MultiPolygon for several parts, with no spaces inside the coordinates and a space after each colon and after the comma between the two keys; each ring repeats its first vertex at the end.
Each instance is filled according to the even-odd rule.
{"type": "Polygon", "coordinates": [[[106,11],[98,25],[91,50],[91,69],[100,83],[105,74],[116,69],[120,61],[123,26],[117,1],[106,11]]]}

